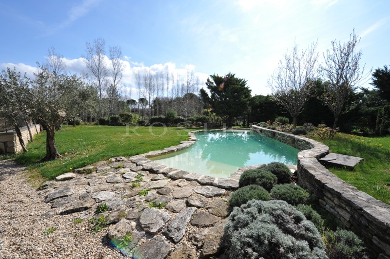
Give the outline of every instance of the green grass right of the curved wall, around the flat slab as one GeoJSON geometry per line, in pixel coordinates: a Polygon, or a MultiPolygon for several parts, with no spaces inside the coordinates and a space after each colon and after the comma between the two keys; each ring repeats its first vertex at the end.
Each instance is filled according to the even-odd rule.
{"type": "Polygon", "coordinates": [[[364,158],[353,171],[340,168],[330,168],[330,171],[375,199],[390,204],[390,137],[337,133],[333,139],[321,142],[333,153],[364,158]]]}

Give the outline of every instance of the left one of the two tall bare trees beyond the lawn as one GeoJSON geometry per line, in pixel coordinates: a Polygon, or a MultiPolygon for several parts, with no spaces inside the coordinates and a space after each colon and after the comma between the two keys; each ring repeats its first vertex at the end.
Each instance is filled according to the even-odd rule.
{"type": "Polygon", "coordinates": [[[96,81],[96,88],[99,93],[99,116],[103,114],[103,95],[106,87],[106,77],[108,75],[107,66],[105,63],[105,47],[106,42],[103,38],[97,38],[91,44],[87,42],[85,44],[84,62],[88,70],[93,74],[96,81]]]}

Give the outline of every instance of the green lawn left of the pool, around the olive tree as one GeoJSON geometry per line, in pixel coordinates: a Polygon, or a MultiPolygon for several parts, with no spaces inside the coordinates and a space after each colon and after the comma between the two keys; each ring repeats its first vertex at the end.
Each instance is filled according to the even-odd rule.
{"type": "Polygon", "coordinates": [[[70,168],[87,166],[115,156],[129,157],[178,145],[188,138],[189,131],[179,128],[129,127],[126,134],[124,126],[63,126],[56,132],[56,144],[62,158],[45,163],[36,162],[46,153],[46,133],[43,132],[28,144],[28,152],[16,156],[16,161],[28,166],[34,178],[41,175],[53,179],[69,172],[70,168]]]}

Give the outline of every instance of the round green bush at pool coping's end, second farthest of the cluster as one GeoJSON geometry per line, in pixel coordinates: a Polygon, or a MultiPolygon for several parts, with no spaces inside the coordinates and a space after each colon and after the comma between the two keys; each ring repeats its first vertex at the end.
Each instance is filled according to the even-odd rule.
{"type": "Polygon", "coordinates": [[[264,189],[270,191],[277,183],[277,178],[269,171],[256,168],[249,169],[243,172],[240,176],[238,186],[243,187],[246,185],[259,185],[264,189]]]}

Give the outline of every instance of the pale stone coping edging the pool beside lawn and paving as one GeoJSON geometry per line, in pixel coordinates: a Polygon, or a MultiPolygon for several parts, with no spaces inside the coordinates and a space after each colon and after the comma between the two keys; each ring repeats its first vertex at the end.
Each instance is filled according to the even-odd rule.
{"type": "MultiPolygon", "coordinates": [[[[242,130],[249,130],[252,132],[252,129],[228,129],[228,128],[223,128],[223,129],[201,129],[201,130],[194,130],[190,131],[188,133],[189,139],[187,141],[180,141],[179,145],[176,146],[171,146],[169,148],[164,148],[163,150],[155,150],[155,151],[149,151],[144,154],[140,155],[135,155],[129,158],[129,160],[136,164],[137,166],[142,166],[143,169],[148,170],[152,173],[156,174],[163,174],[168,178],[172,178],[174,180],[176,179],[185,179],[187,181],[196,181],[201,185],[212,185],[218,188],[223,188],[223,189],[231,189],[235,190],[238,188],[238,180],[240,179],[241,174],[248,170],[248,169],[254,169],[262,164],[258,165],[253,165],[253,166],[243,166],[239,167],[236,171],[230,174],[228,178],[220,178],[220,177],[213,177],[209,175],[204,175],[204,174],[199,174],[199,173],[192,173],[188,171],[184,171],[181,169],[176,169],[172,167],[168,167],[162,164],[157,163],[156,161],[150,160],[149,158],[163,155],[163,154],[168,154],[168,153],[173,153],[179,150],[182,150],[184,148],[189,148],[192,145],[194,145],[197,141],[195,137],[196,132],[200,131],[242,131],[242,130]]],[[[293,165],[288,165],[290,169],[296,169],[296,166],[293,165]],[[294,168],[292,168],[294,167],[294,168]]]]}

